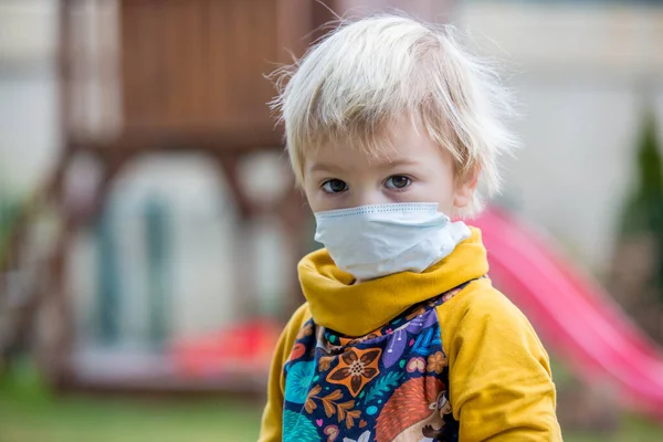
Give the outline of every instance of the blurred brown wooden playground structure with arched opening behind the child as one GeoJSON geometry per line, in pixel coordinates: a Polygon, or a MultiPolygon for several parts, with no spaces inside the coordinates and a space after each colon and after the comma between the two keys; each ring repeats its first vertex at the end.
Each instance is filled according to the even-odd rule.
{"type": "MultiPolygon", "coordinates": [[[[266,106],[274,87],[263,75],[301,55],[333,19],[330,9],[291,0],[63,0],[59,11],[61,151],[13,223],[0,263],[0,367],[45,315],[38,359],[59,388],[241,389],[241,373],[218,385],[193,385],[172,379],[171,372],[150,372],[162,360],[147,364],[138,379],[129,379],[134,372],[123,378],[122,370],[107,377],[82,372],[66,293],[67,256],[76,234],[97,222],[118,173],[146,154],[178,151],[213,161],[231,189],[238,229],[275,215],[292,255],[302,255],[307,239],[301,234],[306,221],[301,196],[288,186],[271,206],[257,204],[241,182],[239,165],[256,152],[283,151],[281,128],[266,106]],[[83,194],[70,186],[81,159],[99,170],[83,194]],[[44,245],[36,236],[45,218],[53,232],[44,245]]],[[[293,305],[299,296],[295,264],[293,296],[285,299],[293,305]]],[[[254,314],[252,283],[249,277],[238,282],[236,292],[244,294],[239,318],[254,314]]]]}

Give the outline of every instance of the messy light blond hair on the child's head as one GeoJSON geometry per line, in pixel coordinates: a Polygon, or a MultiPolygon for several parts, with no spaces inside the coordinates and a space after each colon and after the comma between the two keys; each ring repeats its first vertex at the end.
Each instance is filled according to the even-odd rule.
{"type": "Polygon", "coordinates": [[[408,116],[452,154],[456,179],[478,175],[473,201],[457,214],[478,212],[499,190],[497,159],[517,145],[503,124],[508,95],[495,70],[457,44],[452,27],[392,14],[341,23],[274,75],[272,107],[285,124],[298,185],[311,149],[348,145],[378,155],[391,124],[408,116]]]}

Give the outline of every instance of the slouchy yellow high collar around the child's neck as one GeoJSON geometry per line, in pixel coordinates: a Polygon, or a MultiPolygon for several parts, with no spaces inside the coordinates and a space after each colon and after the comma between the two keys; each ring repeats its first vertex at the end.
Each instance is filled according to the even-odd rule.
{"type": "Polygon", "coordinates": [[[315,323],[344,335],[362,336],[414,304],[485,275],[488,262],[481,231],[471,230],[470,239],[422,273],[402,272],[356,285],[326,249],[304,256],[298,265],[299,282],[315,323]]]}

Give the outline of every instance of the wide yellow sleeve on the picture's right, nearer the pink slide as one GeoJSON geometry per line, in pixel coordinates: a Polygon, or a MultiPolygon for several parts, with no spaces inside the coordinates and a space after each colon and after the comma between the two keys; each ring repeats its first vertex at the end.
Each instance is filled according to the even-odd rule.
{"type": "Polygon", "coordinates": [[[561,441],[548,355],[520,311],[483,280],[438,314],[460,442],[561,441]]]}

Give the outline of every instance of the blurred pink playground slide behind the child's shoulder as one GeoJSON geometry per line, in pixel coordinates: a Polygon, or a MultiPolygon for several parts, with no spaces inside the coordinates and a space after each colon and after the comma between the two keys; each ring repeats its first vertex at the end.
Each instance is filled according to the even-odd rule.
{"type": "Polygon", "coordinates": [[[483,231],[491,276],[541,338],[588,381],[663,421],[663,354],[600,286],[565,262],[532,228],[497,209],[483,231]]]}

